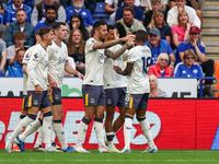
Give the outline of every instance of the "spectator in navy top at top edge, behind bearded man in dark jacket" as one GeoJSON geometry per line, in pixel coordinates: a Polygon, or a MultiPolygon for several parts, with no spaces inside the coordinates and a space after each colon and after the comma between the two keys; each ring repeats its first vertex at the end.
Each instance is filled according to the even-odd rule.
{"type": "Polygon", "coordinates": [[[129,7],[134,10],[134,17],[143,24],[143,10],[134,4],[135,0],[124,0],[124,3],[125,3],[124,5],[119,7],[116,10],[116,19],[115,19],[116,23],[118,23],[120,21],[120,19],[123,19],[124,8],[129,7]]]}

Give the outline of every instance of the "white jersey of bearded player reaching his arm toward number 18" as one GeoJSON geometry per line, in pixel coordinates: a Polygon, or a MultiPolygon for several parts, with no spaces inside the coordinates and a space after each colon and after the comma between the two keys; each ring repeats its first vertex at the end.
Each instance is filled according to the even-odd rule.
{"type": "Polygon", "coordinates": [[[103,85],[104,49],[93,49],[99,43],[91,37],[85,43],[85,74],[83,84],[103,85]]]}

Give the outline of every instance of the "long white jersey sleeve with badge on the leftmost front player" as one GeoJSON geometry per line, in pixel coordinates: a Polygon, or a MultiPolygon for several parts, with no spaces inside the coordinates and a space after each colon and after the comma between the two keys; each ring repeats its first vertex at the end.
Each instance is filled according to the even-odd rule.
{"type": "Polygon", "coordinates": [[[41,59],[42,59],[42,55],[41,52],[38,52],[38,49],[33,50],[31,52],[31,58],[26,67],[26,73],[28,78],[31,79],[31,82],[34,84],[34,86],[39,84],[39,81],[36,79],[35,68],[41,61],[41,59]]]}

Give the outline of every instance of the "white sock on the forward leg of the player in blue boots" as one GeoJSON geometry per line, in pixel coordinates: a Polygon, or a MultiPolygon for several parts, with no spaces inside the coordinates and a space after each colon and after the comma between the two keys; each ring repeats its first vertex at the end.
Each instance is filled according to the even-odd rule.
{"type": "Polygon", "coordinates": [[[56,124],[54,122],[53,124],[54,126],[54,131],[61,144],[61,149],[62,150],[66,150],[68,148],[67,143],[66,143],[66,138],[65,138],[65,131],[64,131],[64,128],[62,128],[62,124],[56,124]]]}

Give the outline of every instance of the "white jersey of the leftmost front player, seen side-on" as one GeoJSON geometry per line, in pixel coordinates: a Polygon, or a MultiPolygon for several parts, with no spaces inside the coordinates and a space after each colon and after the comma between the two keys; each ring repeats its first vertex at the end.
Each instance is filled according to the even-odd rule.
{"type": "Polygon", "coordinates": [[[31,57],[26,67],[27,91],[35,91],[36,85],[41,85],[43,91],[48,85],[48,54],[44,47],[38,44],[33,46],[31,57]]]}

